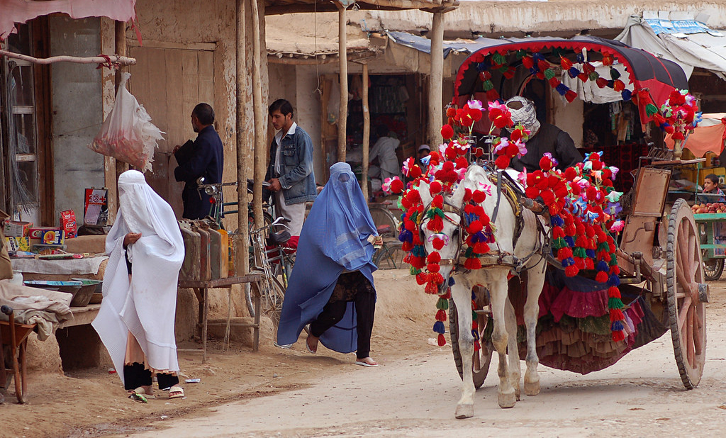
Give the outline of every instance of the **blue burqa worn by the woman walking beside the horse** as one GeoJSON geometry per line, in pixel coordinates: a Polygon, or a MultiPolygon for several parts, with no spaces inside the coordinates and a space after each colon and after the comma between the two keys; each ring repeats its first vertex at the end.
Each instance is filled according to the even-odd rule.
{"type": "MultiPolygon", "coordinates": [[[[277,344],[297,342],[303,327],[314,321],[330,300],[340,273],[360,270],[373,285],[374,249],[367,241],[371,235],[378,232],[351,166],[335,163],[300,234],[282,304],[277,344]]],[[[348,302],[343,319],[325,331],[320,342],[330,350],[354,352],[358,348],[356,325],[355,304],[348,302]]]]}

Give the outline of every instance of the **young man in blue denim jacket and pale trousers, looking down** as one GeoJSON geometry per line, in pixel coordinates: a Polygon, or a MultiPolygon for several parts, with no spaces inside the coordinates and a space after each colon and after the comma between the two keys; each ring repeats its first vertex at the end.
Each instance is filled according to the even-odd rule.
{"type": "Polygon", "coordinates": [[[313,173],[313,142],[308,133],[293,122],[293,106],[277,99],[269,107],[277,133],[270,145],[270,163],[265,179],[273,191],[277,216],[290,219],[292,236],[300,236],[305,220],[305,202],[317,195],[313,173]]]}

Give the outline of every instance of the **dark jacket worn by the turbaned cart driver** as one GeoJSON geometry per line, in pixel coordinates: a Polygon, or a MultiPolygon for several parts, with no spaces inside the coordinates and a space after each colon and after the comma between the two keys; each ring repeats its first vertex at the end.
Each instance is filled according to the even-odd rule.
{"type": "Polygon", "coordinates": [[[582,161],[582,154],[575,147],[575,142],[568,133],[550,123],[542,123],[539,131],[527,141],[527,153],[521,158],[514,157],[511,167],[520,172],[539,170],[539,159],[550,152],[557,160],[557,168],[565,170],[582,161]]]}

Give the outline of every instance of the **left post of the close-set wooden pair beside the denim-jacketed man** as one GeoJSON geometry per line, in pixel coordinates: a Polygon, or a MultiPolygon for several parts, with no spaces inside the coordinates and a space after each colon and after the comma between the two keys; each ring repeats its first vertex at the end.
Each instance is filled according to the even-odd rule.
{"type": "Polygon", "coordinates": [[[237,70],[237,123],[235,133],[237,136],[237,234],[234,235],[234,275],[242,276],[250,270],[250,257],[248,244],[250,241],[247,215],[247,129],[245,127],[245,102],[247,101],[247,69],[245,68],[245,0],[237,0],[237,29],[236,29],[236,70],[237,70]]]}

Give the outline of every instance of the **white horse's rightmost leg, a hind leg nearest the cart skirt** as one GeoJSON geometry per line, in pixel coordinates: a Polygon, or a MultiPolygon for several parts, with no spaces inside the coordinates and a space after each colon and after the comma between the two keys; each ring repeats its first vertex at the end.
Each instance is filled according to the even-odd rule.
{"type": "MultiPolygon", "coordinates": [[[[544,262],[542,262],[544,263],[544,262]]],[[[527,271],[527,300],[524,303],[524,324],[527,329],[527,371],[524,373],[524,393],[539,394],[537,365],[537,319],[539,318],[539,294],[544,286],[544,272],[539,265],[527,271]]]]}

